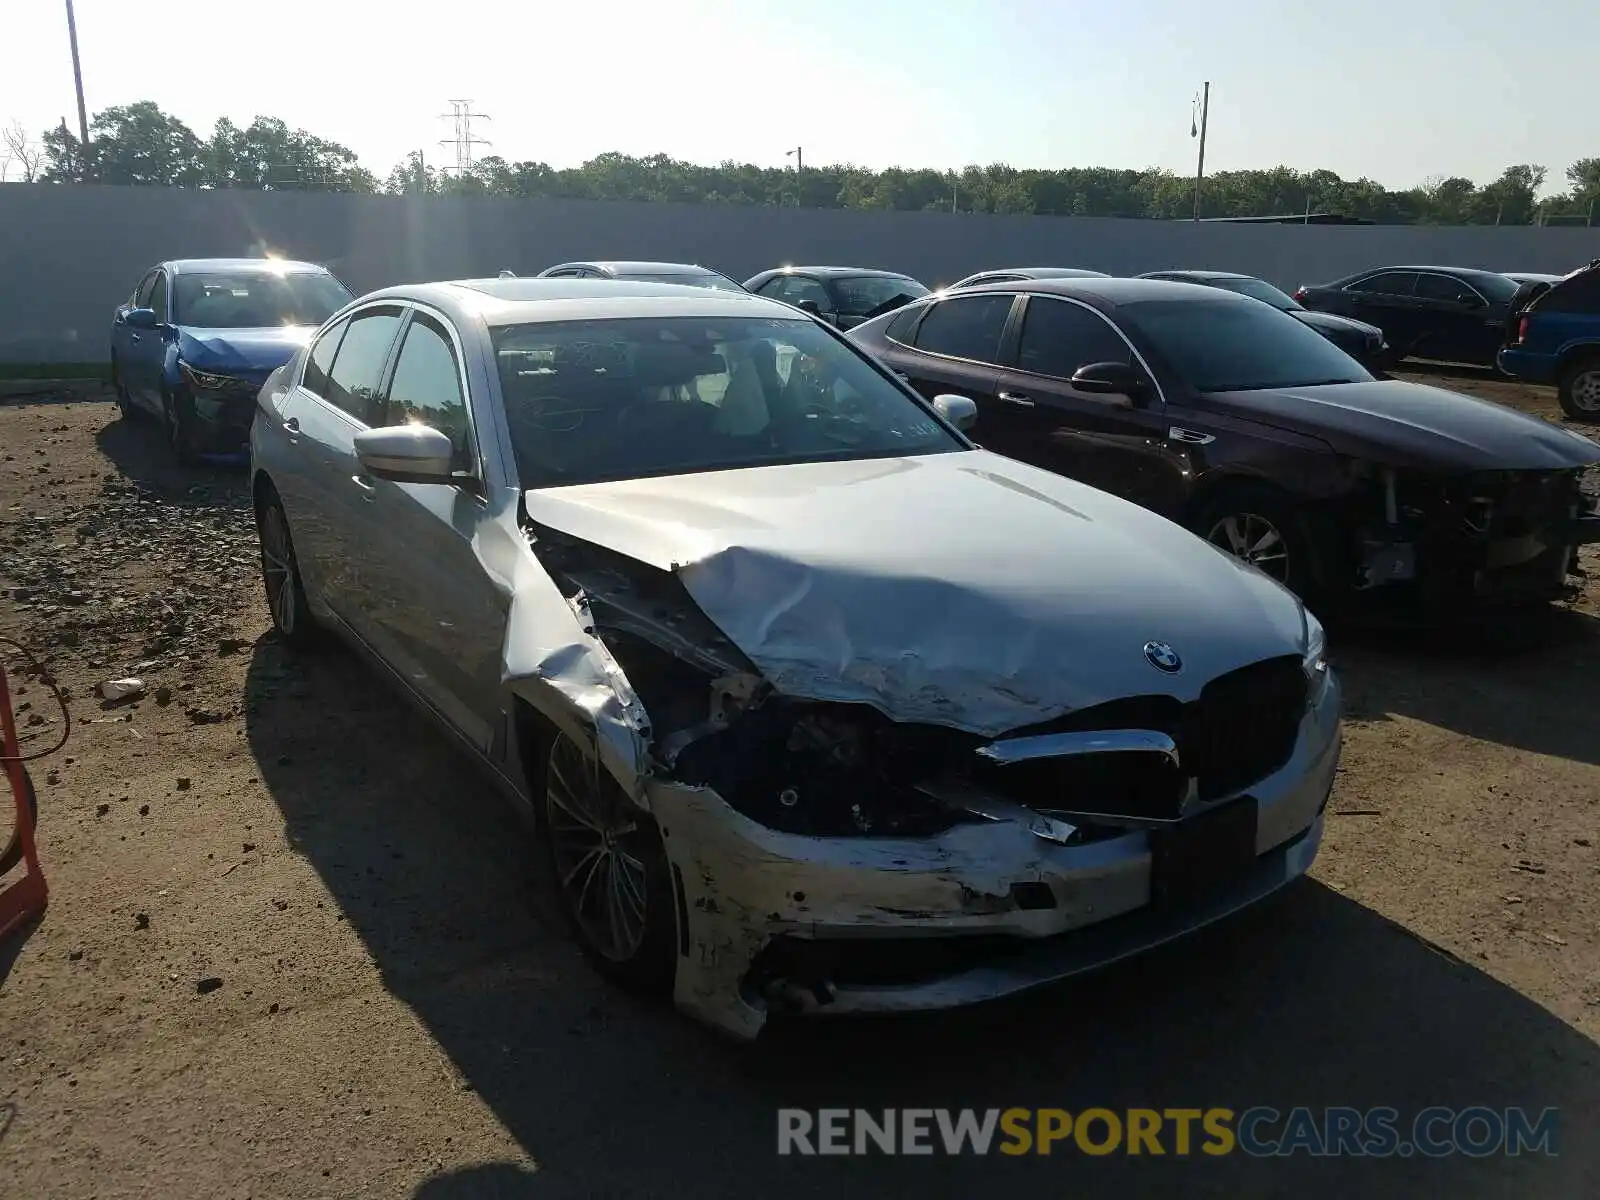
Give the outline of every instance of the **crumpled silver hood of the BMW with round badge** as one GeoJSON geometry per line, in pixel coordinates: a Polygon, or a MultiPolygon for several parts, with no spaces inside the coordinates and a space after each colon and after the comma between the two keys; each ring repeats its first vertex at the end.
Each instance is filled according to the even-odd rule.
{"type": "MultiPolygon", "coordinates": [[[[526,493],[536,523],[675,571],[782,693],[994,736],[1192,699],[1304,648],[1299,602],[1186,530],[984,451],[526,493]],[[1147,642],[1182,658],[1157,670],[1147,642]]],[[[538,536],[538,528],[534,530],[538,536]]]]}

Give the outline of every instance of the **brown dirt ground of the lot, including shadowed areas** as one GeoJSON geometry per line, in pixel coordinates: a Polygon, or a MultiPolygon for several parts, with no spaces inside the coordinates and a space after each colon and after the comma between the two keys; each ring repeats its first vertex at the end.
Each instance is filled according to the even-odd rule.
{"type": "Polygon", "coordinates": [[[445,741],[269,637],[243,488],[99,392],[0,400],[0,634],[72,712],[34,765],[50,910],[0,946],[0,1197],[1600,1194],[1600,557],[1534,632],[1336,635],[1334,814],[1280,899],[1021,1002],[741,1048],[600,984],[445,741]],[[96,698],[120,675],[144,699],[96,698]],[[1213,1104],[1557,1107],[1560,1155],[774,1155],[781,1106],[1213,1104]]]}

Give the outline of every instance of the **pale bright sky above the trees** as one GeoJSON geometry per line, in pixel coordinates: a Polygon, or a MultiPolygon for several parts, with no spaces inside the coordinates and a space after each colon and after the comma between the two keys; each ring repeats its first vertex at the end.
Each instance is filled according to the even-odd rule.
{"type": "MultiPolygon", "coordinates": [[[[5,0],[0,123],[74,125],[62,0],[5,0]]],[[[77,0],[88,107],[256,114],[379,174],[470,98],[478,155],[1478,182],[1600,155],[1600,0],[77,0]]],[[[1549,190],[1549,187],[1546,189],[1549,190]]]]}

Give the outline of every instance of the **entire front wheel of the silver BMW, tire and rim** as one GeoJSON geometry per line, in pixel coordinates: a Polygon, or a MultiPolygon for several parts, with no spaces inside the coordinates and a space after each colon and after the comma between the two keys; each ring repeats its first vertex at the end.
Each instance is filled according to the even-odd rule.
{"type": "Polygon", "coordinates": [[[562,907],[595,968],[630,990],[664,994],[677,907],[661,830],[566,734],[544,771],[544,843],[562,907]]]}

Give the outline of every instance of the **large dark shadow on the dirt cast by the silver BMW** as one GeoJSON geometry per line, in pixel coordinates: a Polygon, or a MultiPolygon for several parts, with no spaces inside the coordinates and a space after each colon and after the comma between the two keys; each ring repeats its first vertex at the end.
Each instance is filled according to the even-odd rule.
{"type": "MultiPolygon", "coordinates": [[[[418,1200],[654,1195],[1576,1197],[1600,1054],[1486,974],[1317,885],[1019,1002],[774,1024],[726,1043],[600,984],[533,885],[510,810],[354,658],[266,638],[250,746],[304,853],[538,1171],[443,1174],[418,1200]],[[314,699],[314,702],[307,702],[314,699]],[[1562,1155],[779,1158],[779,1107],[1558,1107],[1562,1155]]],[[[1586,1182],[1587,1181],[1587,1182],[1586,1182]]]]}

